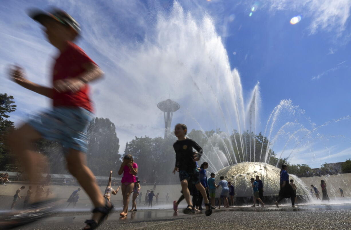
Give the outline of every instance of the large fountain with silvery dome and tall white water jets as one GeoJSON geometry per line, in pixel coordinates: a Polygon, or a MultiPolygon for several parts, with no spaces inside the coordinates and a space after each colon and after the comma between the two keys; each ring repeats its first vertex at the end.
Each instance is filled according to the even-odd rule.
{"type": "MultiPolygon", "coordinates": [[[[156,35],[145,40],[145,46],[135,53],[132,62],[126,63],[125,68],[133,69],[130,75],[132,78],[145,75],[144,73],[152,77],[154,69],[157,69],[157,75],[163,76],[157,79],[157,84],[171,83],[173,86],[160,89],[167,90],[163,93],[191,96],[191,100],[187,100],[188,104],[182,104],[182,107],[186,108],[189,119],[186,122],[192,121],[202,131],[199,139],[207,139],[203,145],[202,160],[209,162],[208,173],[217,172],[216,183],[219,182],[220,175],[234,182],[237,198],[242,197],[244,200],[245,197],[251,197],[249,180],[256,175],[265,184],[264,196],[277,196],[279,160],[284,158],[289,164],[299,149],[311,141],[324,142],[318,129],[350,119],[350,116],[346,116],[316,126],[305,116],[305,111],[295,106],[290,99],[281,100],[267,119],[262,134],[267,138],[268,146],[264,146],[265,141],[258,142],[255,138],[260,125],[259,82],[251,91],[249,99],[244,100],[239,71],[231,69],[227,51],[212,19],[205,16],[199,22],[190,13],[185,13],[178,2],[174,2],[169,16],[162,13],[158,15],[155,32],[156,35]],[[193,43],[195,40],[198,42],[193,43]],[[145,65],[135,69],[134,63],[145,65]],[[185,85],[189,87],[184,87],[185,85]],[[203,105],[201,114],[206,114],[213,126],[223,128],[221,132],[206,134],[201,125],[204,124],[203,116],[196,116],[198,104],[203,105]],[[244,135],[245,132],[253,135],[244,135]],[[232,138],[233,135],[237,138],[232,138]],[[278,161],[271,165],[274,147],[282,150],[276,153],[278,161]]],[[[175,99],[183,101],[182,97],[175,99]]],[[[196,140],[196,137],[191,138],[196,140]]],[[[294,175],[290,175],[290,178],[297,185],[298,197],[307,200],[309,186],[294,175]]]]}

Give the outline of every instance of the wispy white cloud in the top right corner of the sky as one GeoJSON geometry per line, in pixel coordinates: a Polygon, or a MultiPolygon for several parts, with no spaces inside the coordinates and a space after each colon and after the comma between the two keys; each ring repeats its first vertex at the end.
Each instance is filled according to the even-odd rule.
{"type": "Polygon", "coordinates": [[[350,16],[350,0],[270,0],[271,10],[293,10],[304,17],[310,17],[312,22],[310,32],[319,29],[336,31],[339,36],[345,30],[350,16]]]}

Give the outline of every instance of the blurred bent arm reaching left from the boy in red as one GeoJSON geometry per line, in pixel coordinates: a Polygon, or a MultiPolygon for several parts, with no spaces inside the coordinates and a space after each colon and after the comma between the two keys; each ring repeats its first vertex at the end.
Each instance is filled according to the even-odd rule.
{"type": "Polygon", "coordinates": [[[48,98],[53,97],[53,89],[49,87],[45,87],[42,85],[35,84],[34,82],[29,81],[24,74],[24,71],[21,67],[19,66],[13,66],[10,69],[10,77],[14,82],[17,84],[21,85],[22,87],[29,89],[33,92],[36,92],[38,94],[44,95],[48,98]]]}

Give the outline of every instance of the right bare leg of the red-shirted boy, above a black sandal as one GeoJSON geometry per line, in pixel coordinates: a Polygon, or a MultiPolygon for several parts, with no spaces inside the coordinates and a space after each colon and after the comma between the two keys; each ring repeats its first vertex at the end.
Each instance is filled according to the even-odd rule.
{"type": "MultiPolygon", "coordinates": [[[[86,164],[85,153],[70,148],[66,155],[66,161],[68,171],[73,177],[77,178],[78,183],[88,194],[94,207],[105,206],[105,199],[95,181],[95,176],[86,164]]],[[[96,212],[93,213],[92,219],[98,223],[101,216],[102,213],[96,212]]],[[[89,228],[89,225],[87,225],[86,228],[89,228]]]]}

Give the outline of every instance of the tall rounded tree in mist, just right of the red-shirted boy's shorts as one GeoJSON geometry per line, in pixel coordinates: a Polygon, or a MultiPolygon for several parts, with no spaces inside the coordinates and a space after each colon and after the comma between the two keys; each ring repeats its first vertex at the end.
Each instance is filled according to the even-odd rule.
{"type": "Polygon", "coordinates": [[[108,118],[95,117],[88,126],[87,135],[87,161],[93,173],[107,176],[110,170],[118,170],[119,139],[115,125],[108,118]]]}

